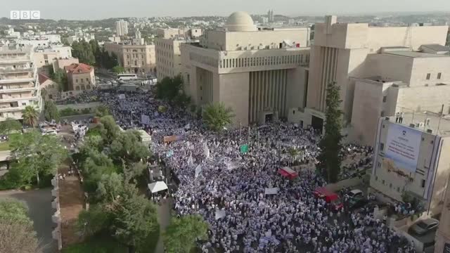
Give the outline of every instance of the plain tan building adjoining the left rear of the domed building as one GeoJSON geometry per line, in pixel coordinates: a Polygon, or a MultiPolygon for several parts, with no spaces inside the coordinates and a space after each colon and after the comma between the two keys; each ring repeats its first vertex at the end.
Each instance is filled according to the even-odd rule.
{"type": "Polygon", "coordinates": [[[158,79],[181,74],[181,44],[198,42],[191,39],[191,34],[195,34],[197,31],[197,29],[160,29],[157,31],[160,36],[155,39],[158,79]]]}

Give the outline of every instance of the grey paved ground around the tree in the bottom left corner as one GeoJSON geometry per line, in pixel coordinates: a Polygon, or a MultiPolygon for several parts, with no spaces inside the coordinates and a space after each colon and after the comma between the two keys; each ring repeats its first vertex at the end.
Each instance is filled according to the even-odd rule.
{"type": "Polygon", "coordinates": [[[56,241],[51,237],[51,231],[56,226],[51,221],[51,215],[53,214],[51,188],[30,191],[1,191],[0,198],[6,197],[11,197],[27,204],[30,218],[34,222],[34,230],[37,231],[37,238],[42,241],[42,245],[46,245],[44,253],[57,252],[56,241]]]}

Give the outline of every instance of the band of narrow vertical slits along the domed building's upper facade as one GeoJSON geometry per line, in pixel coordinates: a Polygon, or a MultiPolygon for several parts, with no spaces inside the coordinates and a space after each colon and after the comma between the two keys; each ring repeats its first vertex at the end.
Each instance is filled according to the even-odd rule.
{"type": "Polygon", "coordinates": [[[220,67],[257,67],[267,65],[300,64],[309,62],[309,55],[264,56],[221,60],[220,67]]]}

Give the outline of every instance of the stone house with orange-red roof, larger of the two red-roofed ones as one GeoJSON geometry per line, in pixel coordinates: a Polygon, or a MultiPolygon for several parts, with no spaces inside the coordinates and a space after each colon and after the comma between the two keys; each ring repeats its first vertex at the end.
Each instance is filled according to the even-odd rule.
{"type": "Polygon", "coordinates": [[[73,63],[64,67],[68,75],[70,91],[85,91],[94,89],[96,86],[96,78],[94,75],[94,67],[84,63],[73,63]]]}

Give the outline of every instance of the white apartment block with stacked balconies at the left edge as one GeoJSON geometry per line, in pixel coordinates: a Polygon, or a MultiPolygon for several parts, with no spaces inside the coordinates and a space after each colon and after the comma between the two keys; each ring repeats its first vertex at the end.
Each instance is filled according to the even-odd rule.
{"type": "Polygon", "coordinates": [[[41,111],[41,91],[31,46],[0,47],[0,121],[22,119],[22,110],[32,105],[41,111]]]}

